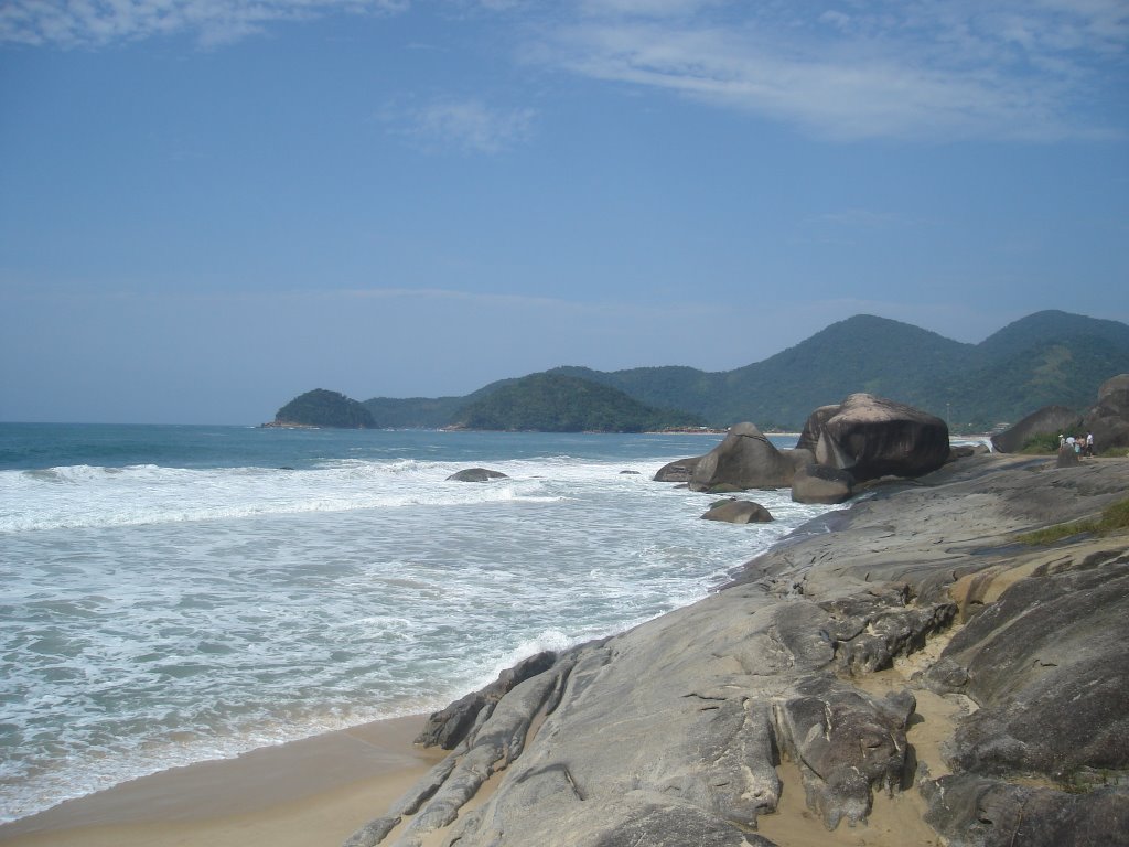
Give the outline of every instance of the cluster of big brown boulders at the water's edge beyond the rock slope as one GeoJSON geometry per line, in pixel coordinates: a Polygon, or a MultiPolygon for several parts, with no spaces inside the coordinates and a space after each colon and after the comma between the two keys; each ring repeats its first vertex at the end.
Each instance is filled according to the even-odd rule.
{"type": "Polygon", "coordinates": [[[738,424],[704,456],[672,462],[655,479],[710,494],[790,488],[796,503],[837,504],[850,499],[859,483],[920,477],[947,460],[944,420],[904,403],[858,393],[816,409],[794,449],[777,449],[755,426],[738,424]]]}

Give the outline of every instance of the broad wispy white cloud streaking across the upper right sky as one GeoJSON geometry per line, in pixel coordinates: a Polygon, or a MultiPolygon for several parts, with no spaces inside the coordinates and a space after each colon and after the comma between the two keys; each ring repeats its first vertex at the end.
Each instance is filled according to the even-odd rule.
{"type": "Polygon", "coordinates": [[[839,139],[1109,134],[1091,85],[1129,44],[1121,0],[584,8],[528,58],[839,139]]]}

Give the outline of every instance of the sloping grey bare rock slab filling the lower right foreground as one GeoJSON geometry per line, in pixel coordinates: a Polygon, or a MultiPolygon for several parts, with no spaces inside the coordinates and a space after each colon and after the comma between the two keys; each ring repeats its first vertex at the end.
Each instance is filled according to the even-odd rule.
{"type": "MultiPolygon", "coordinates": [[[[777,484],[890,472],[837,413],[768,456],[777,484]]],[[[928,419],[886,447],[910,429],[934,465],[916,479],[432,715],[420,743],[449,754],[349,847],[1129,844],[1129,535],[1017,540],[1123,500],[1129,461],[942,464],[928,419]]],[[[704,460],[681,469],[692,488],[741,465],[704,460]]]]}

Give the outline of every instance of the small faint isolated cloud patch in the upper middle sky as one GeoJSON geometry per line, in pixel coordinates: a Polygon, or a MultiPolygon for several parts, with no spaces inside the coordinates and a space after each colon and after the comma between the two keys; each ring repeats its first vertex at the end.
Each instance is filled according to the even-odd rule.
{"type": "Polygon", "coordinates": [[[526,141],[535,116],[532,108],[491,106],[474,97],[391,107],[382,115],[391,131],[425,149],[482,154],[502,152],[526,141]]]}

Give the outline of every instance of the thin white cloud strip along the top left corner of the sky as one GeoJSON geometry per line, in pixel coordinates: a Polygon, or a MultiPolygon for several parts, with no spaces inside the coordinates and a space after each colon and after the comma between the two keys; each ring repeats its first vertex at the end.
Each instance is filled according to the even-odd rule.
{"type": "Polygon", "coordinates": [[[392,14],[408,0],[6,0],[0,42],[103,46],[176,33],[219,45],[269,24],[333,11],[392,14]]]}

